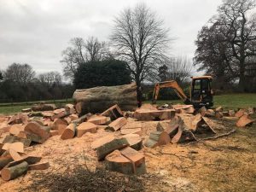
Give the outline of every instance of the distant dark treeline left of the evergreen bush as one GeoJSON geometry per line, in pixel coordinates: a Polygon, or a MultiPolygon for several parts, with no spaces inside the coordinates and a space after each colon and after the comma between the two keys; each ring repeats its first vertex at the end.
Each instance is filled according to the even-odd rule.
{"type": "Polygon", "coordinates": [[[0,102],[67,99],[73,84],[62,82],[58,72],[36,74],[28,64],[13,63],[0,72],[0,102]]]}

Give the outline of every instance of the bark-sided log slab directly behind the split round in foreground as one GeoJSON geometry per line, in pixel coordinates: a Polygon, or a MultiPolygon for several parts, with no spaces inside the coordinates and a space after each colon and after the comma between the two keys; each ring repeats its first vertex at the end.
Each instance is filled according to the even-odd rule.
{"type": "Polygon", "coordinates": [[[104,138],[102,143],[98,142],[98,146],[96,148],[96,154],[98,156],[98,160],[103,160],[107,154],[110,154],[116,149],[125,148],[129,143],[126,138],[113,139],[113,137],[104,138]]]}

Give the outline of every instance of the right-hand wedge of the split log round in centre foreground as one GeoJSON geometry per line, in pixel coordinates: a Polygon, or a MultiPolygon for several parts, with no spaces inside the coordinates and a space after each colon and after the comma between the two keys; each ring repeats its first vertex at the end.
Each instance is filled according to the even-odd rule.
{"type": "Polygon", "coordinates": [[[137,152],[137,150],[130,147],[121,149],[120,153],[123,154],[128,160],[131,160],[133,173],[135,174],[146,173],[144,154],[139,153],[137,152]]]}

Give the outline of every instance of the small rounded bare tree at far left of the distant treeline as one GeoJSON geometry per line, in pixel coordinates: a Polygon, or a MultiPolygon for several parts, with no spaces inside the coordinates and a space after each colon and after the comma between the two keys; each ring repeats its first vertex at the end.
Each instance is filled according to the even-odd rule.
{"type": "Polygon", "coordinates": [[[35,78],[35,74],[30,65],[13,63],[6,69],[3,75],[4,79],[23,85],[32,82],[35,78]]]}

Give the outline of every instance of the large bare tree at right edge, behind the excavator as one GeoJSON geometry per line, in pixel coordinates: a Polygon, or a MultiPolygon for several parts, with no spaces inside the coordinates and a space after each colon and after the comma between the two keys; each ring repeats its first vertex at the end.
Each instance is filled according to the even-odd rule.
{"type": "Polygon", "coordinates": [[[256,55],[254,8],[255,0],[224,0],[218,15],[202,28],[196,41],[195,64],[228,79],[239,79],[241,91],[246,89],[247,65],[256,55]]]}

